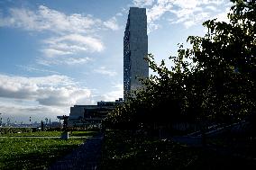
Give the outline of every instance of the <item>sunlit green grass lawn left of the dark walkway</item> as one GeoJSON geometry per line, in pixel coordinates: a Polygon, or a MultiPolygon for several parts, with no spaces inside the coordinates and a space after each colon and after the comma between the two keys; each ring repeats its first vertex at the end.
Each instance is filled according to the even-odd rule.
{"type": "MultiPolygon", "coordinates": [[[[61,131],[38,131],[13,133],[9,136],[21,138],[0,138],[0,169],[46,169],[58,158],[78,148],[85,139],[32,139],[22,137],[60,136],[61,131]]],[[[73,131],[73,136],[89,137],[96,131],[73,131]]]]}

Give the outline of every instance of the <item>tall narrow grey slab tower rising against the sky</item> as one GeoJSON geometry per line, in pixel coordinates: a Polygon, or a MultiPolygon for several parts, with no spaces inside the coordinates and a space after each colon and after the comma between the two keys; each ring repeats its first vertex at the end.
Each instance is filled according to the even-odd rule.
{"type": "Polygon", "coordinates": [[[139,77],[149,77],[147,15],[145,8],[131,7],[123,36],[123,98],[142,87],[139,77]]]}

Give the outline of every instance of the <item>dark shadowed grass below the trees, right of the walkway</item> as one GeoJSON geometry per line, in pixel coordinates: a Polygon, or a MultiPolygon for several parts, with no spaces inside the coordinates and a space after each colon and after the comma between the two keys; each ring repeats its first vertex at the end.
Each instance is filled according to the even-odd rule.
{"type": "Polygon", "coordinates": [[[211,149],[127,131],[107,131],[101,169],[255,169],[256,164],[211,149]]]}

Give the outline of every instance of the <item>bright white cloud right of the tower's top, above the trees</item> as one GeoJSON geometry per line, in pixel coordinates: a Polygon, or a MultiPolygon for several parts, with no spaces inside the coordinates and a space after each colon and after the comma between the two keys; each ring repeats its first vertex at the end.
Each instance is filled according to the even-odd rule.
{"type": "MultiPolygon", "coordinates": [[[[163,18],[165,13],[174,14],[174,16],[172,14],[165,17],[169,23],[182,23],[186,28],[189,28],[217,15],[219,9],[223,9],[224,5],[229,4],[228,2],[228,0],[156,0],[149,1],[147,4],[145,0],[133,0],[133,4],[140,7],[147,4],[149,32],[160,28],[157,21],[163,18]]],[[[219,16],[223,17],[221,14],[219,16]]]]}

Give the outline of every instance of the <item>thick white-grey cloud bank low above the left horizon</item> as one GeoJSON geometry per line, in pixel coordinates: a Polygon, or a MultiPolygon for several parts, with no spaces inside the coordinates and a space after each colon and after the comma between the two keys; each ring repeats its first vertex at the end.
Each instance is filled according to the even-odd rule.
{"type": "Polygon", "coordinates": [[[89,89],[76,85],[68,76],[5,76],[0,75],[0,97],[29,100],[41,105],[70,106],[89,98],[89,89]]]}

